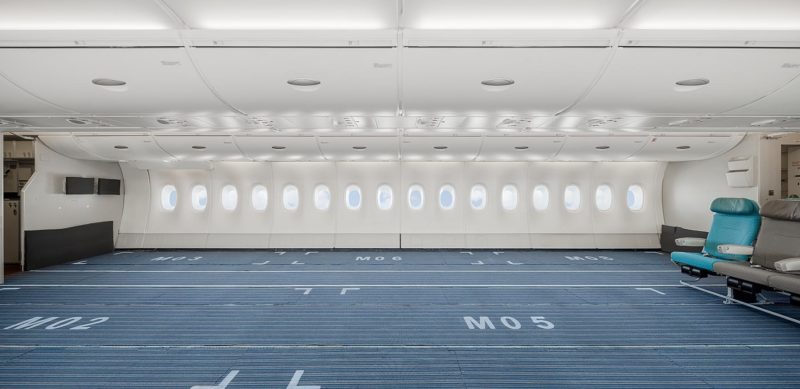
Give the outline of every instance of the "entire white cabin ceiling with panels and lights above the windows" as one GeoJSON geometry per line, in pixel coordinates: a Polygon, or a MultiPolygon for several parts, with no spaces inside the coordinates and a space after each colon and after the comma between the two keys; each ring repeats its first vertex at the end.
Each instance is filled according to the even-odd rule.
{"type": "Polygon", "coordinates": [[[79,135],[69,152],[95,157],[115,154],[90,136],[191,134],[234,141],[128,151],[380,160],[393,144],[392,158],[438,160],[428,142],[464,138],[445,158],[649,160],[677,157],[658,142],[635,150],[631,137],[800,131],[795,0],[0,0],[0,10],[0,129],[79,135]],[[303,79],[319,85],[287,83],[303,79]],[[481,84],[503,79],[513,84],[481,84]],[[708,84],[676,86],[690,79],[708,84]],[[620,143],[599,153],[574,137],[620,143]],[[272,138],[298,152],[262,149],[272,138]],[[351,155],[348,138],[368,148],[351,155]],[[506,150],[516,143],[529,148],[506,150]]]}

